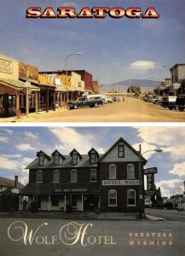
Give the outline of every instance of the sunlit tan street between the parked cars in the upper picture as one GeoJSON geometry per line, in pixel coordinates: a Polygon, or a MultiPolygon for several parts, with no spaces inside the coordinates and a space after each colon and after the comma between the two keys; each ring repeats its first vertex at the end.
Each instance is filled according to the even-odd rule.
{"type": "Polygon", "coordinates": [[[23,119],[28,122],[184,122],[185,111],[161,108],[153,103],[135,98],[113,102],[100,108],[61,110],[38,118],[23,119]]]}

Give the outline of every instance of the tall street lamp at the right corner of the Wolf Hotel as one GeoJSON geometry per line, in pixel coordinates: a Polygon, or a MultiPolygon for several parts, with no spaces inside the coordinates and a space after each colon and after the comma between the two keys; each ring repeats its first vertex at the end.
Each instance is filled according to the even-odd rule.
{"type": "Polygon", "coordinates": [[[154,152],[157,152],[157,153],[161,153],[163,152],[162,149],[160,148],[156,148],[156,149],[151,149],[151,150],[147,150],[145,151],[144,153],[142,153],[142,144],[139,144],[139,218],[142,218],[142,212],[143,214],[145,213],[144,212],[144,207],[142,209],[142,200],[143,200],[143,184],[142,184],[142,176],[143,176],[143,172],[142,172],[142,155],[147,153],[147,152],[150,152],[150,151],[154,151],[154,152]]]}

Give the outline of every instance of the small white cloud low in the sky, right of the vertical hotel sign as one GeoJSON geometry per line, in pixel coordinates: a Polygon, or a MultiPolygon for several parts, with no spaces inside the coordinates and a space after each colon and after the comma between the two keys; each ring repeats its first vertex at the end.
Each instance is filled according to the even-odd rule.
{"type": "Polygon", "coordinates": [[[179,187],[182,187],[182,180],[181,179],[171,179],[171,180],[162,180],[159,182],[156,182],[156,187],[161,190],[162,196],[168,196],[176,195],[179,193],[178,189],[179,187]]]}

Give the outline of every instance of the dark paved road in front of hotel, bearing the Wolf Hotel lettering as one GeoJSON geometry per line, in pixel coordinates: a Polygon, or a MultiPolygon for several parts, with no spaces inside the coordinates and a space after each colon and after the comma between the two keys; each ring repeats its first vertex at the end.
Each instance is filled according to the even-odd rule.
{"type": "Polygon", "coordinates": [[[76,220],[77,224],[69,225],[70,222],[72,220],[0,218],[1,255],[182,256],[185,252],[185,223],[147,220],[76,220]],[[9,228],[15,221],[21,221],[22,223],[15,223],[9,228]],[[22,230],[20,228],[25,230],[27,227],[28,233],[33,230],[32,235],[34,235],[39,225],[43,223],[47,223],[47,225],[38,230],[33,241],[30,240],[31,243],[27,240],[25,244],[23,238],[21,238],[22,230]],[[82,226],[82,224],[84,225],[82,226]],[[87,224],[92,224],[92,226],[86,226],[87,224]],[[80,228],[81,232],[79,234],[78,230],[80,228]],[[86,230],[84,230],[85,228],[86,230]],[[79,234],[79,239],[75,236],[75,231],[76,234],[79,234]],[[143,233],[143,236],[141,233],[143,233]],[[71,240],[66,239],[65,234],[66,237],[70,236],[71,240]],[[12,241],[13,239],[14,241],[12,241]]]}

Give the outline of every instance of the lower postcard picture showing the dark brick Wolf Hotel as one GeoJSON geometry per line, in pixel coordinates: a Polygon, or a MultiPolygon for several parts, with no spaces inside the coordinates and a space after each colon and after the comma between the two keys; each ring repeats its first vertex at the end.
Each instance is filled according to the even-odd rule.
{"type": "Polygon", "coordinates": [[[183,255],[185,127],[0,129],[8,255],[183,255]]]}

